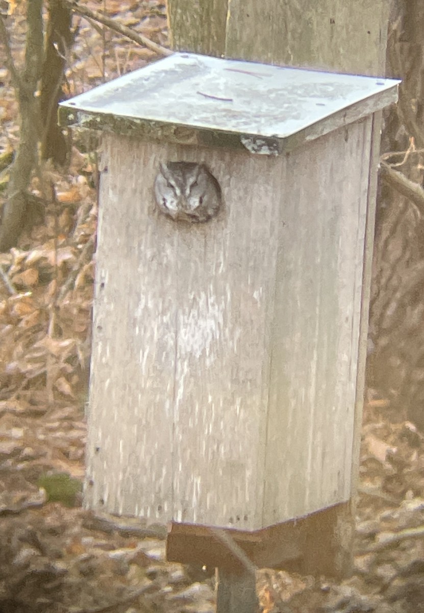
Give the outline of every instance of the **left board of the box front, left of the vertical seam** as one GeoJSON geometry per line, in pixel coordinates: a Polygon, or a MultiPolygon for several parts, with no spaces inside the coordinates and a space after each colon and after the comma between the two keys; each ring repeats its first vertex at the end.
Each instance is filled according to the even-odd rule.
{"type": "Polygon", "coordinates": [[[159,295],[157,281],[173,276],[175,234],[164,227],[157,241],[154,152],[135,148],[127,158],[129,150],[127,139],[104,139],[86,503],[165,523],[172,514],[176,288],[164,280],[168,291],[159,295]]]}

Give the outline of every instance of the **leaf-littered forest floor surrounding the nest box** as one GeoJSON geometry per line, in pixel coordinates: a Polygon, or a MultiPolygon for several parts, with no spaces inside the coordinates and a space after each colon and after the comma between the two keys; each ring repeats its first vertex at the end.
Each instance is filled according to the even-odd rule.
{"type": "MultiPolygon", "coordinates": [[[[10,2],[18,61],[24,4],[10,2]]],[[[166,44],[160,2],[105,6],[110,17],[166,44]]],[[[77,22],[70,95],[156,58],[77,22]]],[[[3,153],[16,147],[18,128],[6,70],[0,80],[3,153]]],[[[50,189],[42,223],[0,255],[0,613],[212,612],[214,578],[167,563],[163,533],[81,508],[97,220],[92,149],[93,137],[75,130],[69,167],[40,169],[32,190],[50,189]]],[[[335,582],[261,569],[263,612],[424,612],[423,444],[414,424],[368,390],[354,574],[335,582]]]]}

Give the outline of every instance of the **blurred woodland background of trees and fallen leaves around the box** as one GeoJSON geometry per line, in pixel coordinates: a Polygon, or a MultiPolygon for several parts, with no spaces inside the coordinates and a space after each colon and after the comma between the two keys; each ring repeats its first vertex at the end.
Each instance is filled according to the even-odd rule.
{"type": "MultiPolygon", "coordinates": [[[[97,137],[60,99],[167,53],[160,0],[0,2],[0,611],[213,611],[163,534],[80,508],[97,137]]],[[[396,0],[382,136],[355,574],[261,571],[271,611],[422,611],[424,6],[396,0]],[[286,608],[285,608],[286,607],[286,608]],[[288,608],[287,608],[288,607],[288,608]]],[[[200,583],[199,580],[200,579],[200,583]]]]}

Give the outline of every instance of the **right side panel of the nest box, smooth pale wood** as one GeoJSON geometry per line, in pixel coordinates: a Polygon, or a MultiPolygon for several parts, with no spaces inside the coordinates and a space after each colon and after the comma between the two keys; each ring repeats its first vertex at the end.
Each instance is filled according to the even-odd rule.
{"type": "Polygon", "coordinates": [[[349,500],[371,117],[287,158],[263,525],[349,500]]]}

